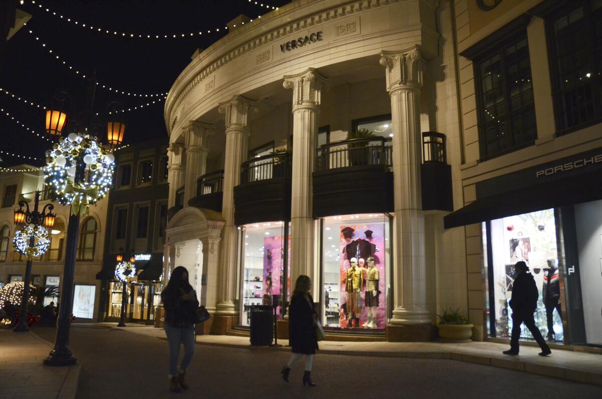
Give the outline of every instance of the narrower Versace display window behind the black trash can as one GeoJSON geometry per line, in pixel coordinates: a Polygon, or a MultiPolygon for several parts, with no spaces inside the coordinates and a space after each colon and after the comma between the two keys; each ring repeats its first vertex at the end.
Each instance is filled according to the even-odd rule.
{"type": "Polygon", "coordinates": [[[290,242],[287,222],[263,222],[240,227],[242,325],[250,325],[250,307],[274,305],[284,316],[283,296],[290,297],[290,242]],[[286,254],[286,256],[285,256],[286,254]],[[287,276],[285,278],[284,276],[287,276]]]}

